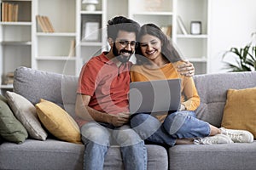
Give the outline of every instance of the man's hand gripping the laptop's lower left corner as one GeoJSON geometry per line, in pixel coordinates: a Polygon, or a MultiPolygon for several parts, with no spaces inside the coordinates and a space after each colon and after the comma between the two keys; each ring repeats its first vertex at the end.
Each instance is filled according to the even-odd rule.
{"type": "Polygon", "coordinates": [[[111,115],[108,123],[113,124],[114,127],[120,127],[129,122],[129,117],[129,112],[122,112],[117,115],[111,115]]]}

